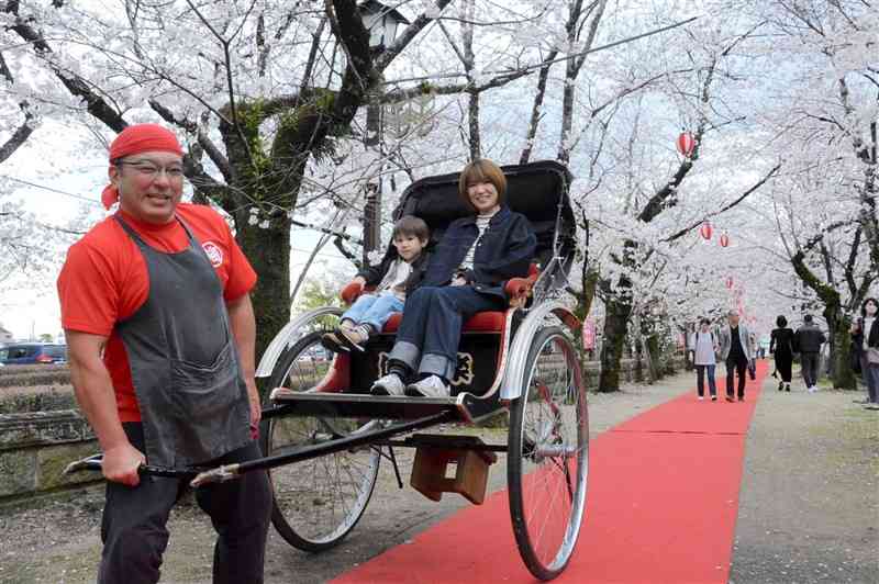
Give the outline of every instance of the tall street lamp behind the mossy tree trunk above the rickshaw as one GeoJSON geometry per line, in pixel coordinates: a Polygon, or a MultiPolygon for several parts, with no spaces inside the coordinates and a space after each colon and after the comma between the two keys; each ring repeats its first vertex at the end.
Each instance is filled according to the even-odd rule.
{"type": "MultiPolygon", "coordinates": [[[[393,8],[387,7],[375,0],[366,0],[358,5],[364,26],[369,31],[369,48],[374,53],[381,53],[393,43],[397,37],[397,27],[409,24],[393,8]]],[[[381,87],[381,86],[378,86],[381,87]]],[[[379,171],[377,182],[367,183],[366,204],[364,205],[364,266],[369,265],[369,252],[379,248],[381,244],[381,172],[385,168],[381,158],[381,134],[383,130],[383,115],[378,96],[371,94],[366,108],[366,139],[367,148],[377,147],[379,155],[379,171]]]]}

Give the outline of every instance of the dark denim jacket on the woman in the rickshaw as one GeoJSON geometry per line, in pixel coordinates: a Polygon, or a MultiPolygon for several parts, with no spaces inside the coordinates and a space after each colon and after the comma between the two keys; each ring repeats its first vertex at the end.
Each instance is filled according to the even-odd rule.
{"type": "MultiPolygon", "coordinates": [[[[453,221],[434,249],[422,285],[448,284],[478,236],[476,215],[453,221]]],[[[474,254],[474,268],[464,277],[477,291],[505,299],[507,280],[528,274],[536,248],[525,216],[502,206],[489,221],[474,254]]]]}

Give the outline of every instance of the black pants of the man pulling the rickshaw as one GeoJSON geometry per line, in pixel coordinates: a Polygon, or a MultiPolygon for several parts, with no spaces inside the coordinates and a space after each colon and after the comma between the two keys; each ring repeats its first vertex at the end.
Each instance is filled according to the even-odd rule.
{"type": "MultiPolygon", "coordinates": [[[[131,443],[143,451],[143,427],[123,424],[131,443]]],[[[212,462],[229,464],[262,456],[256,442],[212,462]]],[[[99,584],[153,584],[159,580],[162,554],[168,544],[165,524],[171,507],[188,488],[187,480],[141,476],[136,487],[107,483],[101,525],[103,553],[99,584]]],[[[202,486],[196,501],[211,517],[218,534],[213,553],[214,584],[260,584],[271,487],[263,471],[226,483],[202,486]]]]}

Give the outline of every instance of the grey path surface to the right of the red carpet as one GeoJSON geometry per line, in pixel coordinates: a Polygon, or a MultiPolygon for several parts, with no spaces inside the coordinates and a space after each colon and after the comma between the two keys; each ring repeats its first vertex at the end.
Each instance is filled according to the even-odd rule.
{"type": "Polygon", "coordinates": [[[879,583],[879,412],[766,381],[748,433],[730,582],[879,583]]]}

